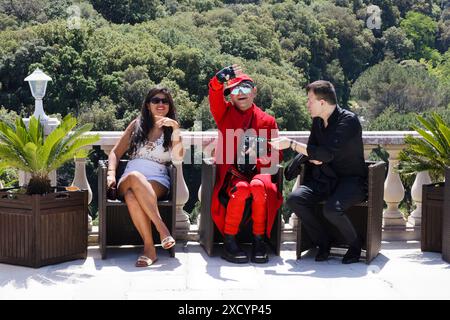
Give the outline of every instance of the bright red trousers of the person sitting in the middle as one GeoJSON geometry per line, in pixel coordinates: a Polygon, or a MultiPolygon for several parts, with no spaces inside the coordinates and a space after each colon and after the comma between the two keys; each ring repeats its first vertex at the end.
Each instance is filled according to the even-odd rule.
{"type": "Polygon", "coordinates": [[[264,235],[267,221],[267,194],[261,180],[247,182],[232,176],[227,189],[230,196],[225,216],[226,234],[236,235],[245,209],[245,201],[252,196],[253,234],[264,235]]]}

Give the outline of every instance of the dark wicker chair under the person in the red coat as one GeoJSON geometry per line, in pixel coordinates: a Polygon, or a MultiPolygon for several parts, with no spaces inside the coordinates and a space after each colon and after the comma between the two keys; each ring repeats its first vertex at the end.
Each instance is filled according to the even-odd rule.
{"type": "MultiPolygon", "coordinates": [[[[213,159],[203,159],[202,164],[202,195],[201,195],[201,217],[199,224],[200,244],[206,253],[213,255],[214,244],[223,243],[223,237],[211,217],[211,200],[216,181],[216,165],[213,159]]],[[[278,167],[278,172],[272,176],[272,181],[278,187],[283,187],[283,168],[278,167]]],[[[249,212],[251,200],[247,200],[246,211],[249,212]]],[[[245,214],[244,214],[245,215],[245,214]]],[[[243,219],[244,220],[244,219],[243,219]]],[[[237,240],[240,243],[252,242],[252,224],[241,225],[237,240]]],[[[266,242],[276,255],[280,255],[281,245],[281,212],[278,211],[275,222],[272,226],[270,238],[266,237],[266,242]]]]}

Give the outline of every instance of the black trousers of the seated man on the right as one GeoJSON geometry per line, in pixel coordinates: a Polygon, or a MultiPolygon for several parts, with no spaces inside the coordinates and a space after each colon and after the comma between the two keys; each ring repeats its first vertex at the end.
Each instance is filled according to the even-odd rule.
{"type": "Polygon", "coordinates": [[[325,227],[314,214],[317,203],[325,201],[323,215],[344,237],[349,246],[360,246],[360,240],[350,219],[344,211],[351,206],[364,201],[367,197],[367,187],[360,177],[339,178],[336,189],[331,195],[320,190],[320,185],[307,181],[289,194],[287,205],[301,219],[308,236],[314,245],[329,246],[330,236],[325,227]]]}

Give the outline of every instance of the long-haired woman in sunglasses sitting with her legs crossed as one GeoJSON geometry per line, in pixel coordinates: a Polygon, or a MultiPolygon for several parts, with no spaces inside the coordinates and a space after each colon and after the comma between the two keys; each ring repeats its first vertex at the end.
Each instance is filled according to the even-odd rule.
{"type": "Polygon", "coordinates": [[[149,91],[141,115],[133,120],[111,150],[108,157],[108,188],[116,186],[116,168],[119,159],[128,151],[130,161],[117,182],[128,211],[143,242],[144,252],[136,261],[137,267],[150,266],[157,260],[153,243],[153,223],[161,237],[164,249],[175,245],[174,238],[159,214],[158,198],[170,190],[166,164],[183,159],[184,150],[176,120],[175,106],[167,88],[149,91]]]}

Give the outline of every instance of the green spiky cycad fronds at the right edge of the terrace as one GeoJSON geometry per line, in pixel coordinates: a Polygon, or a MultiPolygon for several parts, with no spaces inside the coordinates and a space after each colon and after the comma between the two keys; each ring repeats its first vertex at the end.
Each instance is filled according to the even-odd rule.
{"type": "Polygon", "coordinates": [[[450,127],[442,117],[433,112],[426,120],[417,116],[424,128],[414,127],[422,138],[407,136],[406,148],[400,153],[399,172],[414,174],[429,171],[432,176],[443,177],[450,166],[450,127]]]}

